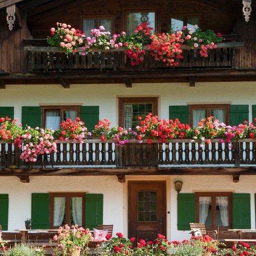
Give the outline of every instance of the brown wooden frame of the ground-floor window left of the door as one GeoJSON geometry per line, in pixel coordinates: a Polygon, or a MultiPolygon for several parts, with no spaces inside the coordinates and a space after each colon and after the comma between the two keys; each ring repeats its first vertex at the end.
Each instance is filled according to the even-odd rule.
{"type": "MultiPolygon", "coordinates": [[[[68,216],[68,221],[70,222],[70,205],[71,205],[71,197],[82,197],[83,198],[83,205],[82,205],[82,226],[84,227],[84,217],[85,217],[85,194],[86,193],[49,193],[50,194],[50,228],[59,228],[57,226],[54,226],[54,197],[65,197],[66,198],[66,222],[67,222],[67,216],[68,216]],[[69,207],[68,207],[69,206],[69,207]]],[[[68,225],[71,225],[71,223],[66,223],[68,225]]]]}

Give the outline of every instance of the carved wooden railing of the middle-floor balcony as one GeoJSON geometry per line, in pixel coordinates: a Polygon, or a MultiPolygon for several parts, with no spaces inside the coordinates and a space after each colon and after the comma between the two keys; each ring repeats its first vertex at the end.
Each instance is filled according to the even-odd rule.
{"type": "Polygon", "coordinates": [[[0,143],[0,168],[86,168],[86,167],[173,167],[173,166],[243,166],[256,164],[256,140],[241,139],[232,144],[218,143],[200,147],[189,139],[170,140],[165,144],[131,141],[116,147],[112,141],[85,140],[83,144],[59,141],[57,153],[40,155],[36,162],[20,158],[22,148],[0,143]]]}

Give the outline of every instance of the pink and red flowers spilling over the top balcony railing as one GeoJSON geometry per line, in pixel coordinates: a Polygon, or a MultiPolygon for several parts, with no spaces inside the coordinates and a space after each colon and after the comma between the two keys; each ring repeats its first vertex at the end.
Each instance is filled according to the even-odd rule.
{"type": "MultiPolygon", "coordinates": [[[[118,49],[126,48],[126,54],[131,59],[131,66],[139,65],[144,60],[145,51],[143,45],[148,45],[152,50],[152,56],[156,61],[166,63],[166,66],[177,66],[177,60],[182,58],[181,45],[186,44],[191,48],[200,47],[200,56],[208,57],[208,51],[216,48],[216,43],[222,41],[221,33],[215,34],[212,30],[203,32],[197,25],[194,29],[186,26],[182,31],[171,31],[170,33],[153,34],[153,28],[145,22],[136,26],[135,34],[127,36],[123,31],[120,34],[110,36],[109,31],[105,31],[103,26],[99,29],[92,29],[90,35],[85,35],[82,31],[71,28],[71,25],[57,22],[57,30],[51,28],[51,36],[47,42],[52,47],[58,47],[67,54],[76,52],[82,47],[84,51],[93,48],[98,49],[118,49]]],[[[81,53],[85,55],[85,52],[81,53]]]]}

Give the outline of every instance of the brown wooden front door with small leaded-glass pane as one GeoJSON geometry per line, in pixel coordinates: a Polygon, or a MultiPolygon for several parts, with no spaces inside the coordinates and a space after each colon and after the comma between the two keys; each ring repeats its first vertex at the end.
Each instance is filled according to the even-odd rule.
{"type": "Polygon", "coordinates": [[[166,235],[166,182],[130,181],[128,188],[129,237],[153,241],[166,235]]]}

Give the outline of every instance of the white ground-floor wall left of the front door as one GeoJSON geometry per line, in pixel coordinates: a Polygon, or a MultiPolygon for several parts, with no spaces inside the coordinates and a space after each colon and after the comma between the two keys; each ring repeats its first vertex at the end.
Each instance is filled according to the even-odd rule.
{"type": "Polygon", "coordinates": [[[123,230],[123,185],[116,176],[31,176],[30,183],[17,177],[0,177],[0,194],[9,194],[8,231],[23,229],[31,218],[31,194],[85,192],[103,194],[103,224],[114,224],[113,234],[123,230]]]}

